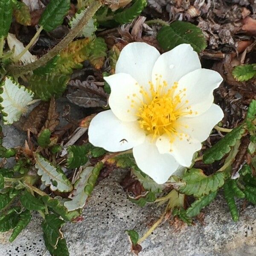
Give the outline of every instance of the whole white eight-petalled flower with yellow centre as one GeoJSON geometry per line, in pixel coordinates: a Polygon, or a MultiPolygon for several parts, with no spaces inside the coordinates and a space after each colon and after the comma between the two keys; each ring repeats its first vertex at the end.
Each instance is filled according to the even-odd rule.
{"type": "Polygon", "coordinates": [[[111,152],[133,148],[137,166],[157,183],[189,167],[223,118],[212,94],[222,78],[201,68],[189,44],[162,55],[145,43],[128,44],[105,81],[111,110],[91,121],[90,143],[111,152]]]}

